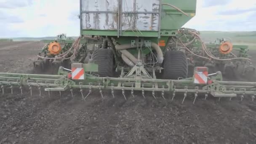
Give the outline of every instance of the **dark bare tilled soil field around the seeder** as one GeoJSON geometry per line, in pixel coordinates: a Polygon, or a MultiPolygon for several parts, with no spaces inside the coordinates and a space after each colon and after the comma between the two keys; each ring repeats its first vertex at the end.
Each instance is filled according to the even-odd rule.
{"type": "MultiPolygon", "coordinates": [[[[248,42],[246,42],[248,43],[248,42]]],[[[0,43],[1,72],[30,73],[41,42],[0,43]]],[[[256,50],[251,49],[256,66],[256,50]]],[[[10,92],[10,90],[8,90],[10,92]]],[[[128,94],[127,94],[128,95],[128,94]]],[[[167,94],[166,94],[167,95],[167,94]]],[[[0,144],[256,144],[256,102],[183,97],[155,100],[150,93],[116,98],[99,91],[0,94],[0,144]]],[[[166,96],[167,97],[167,96],[166,96]]]]}

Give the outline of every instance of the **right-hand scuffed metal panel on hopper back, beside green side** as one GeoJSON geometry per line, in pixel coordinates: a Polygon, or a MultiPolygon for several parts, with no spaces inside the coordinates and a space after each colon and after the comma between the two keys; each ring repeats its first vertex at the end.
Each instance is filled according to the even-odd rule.
{"type": "Polygon", "coordinates": [[[159,30],[160,0],[122,0],[122,30],[159,30]]]}

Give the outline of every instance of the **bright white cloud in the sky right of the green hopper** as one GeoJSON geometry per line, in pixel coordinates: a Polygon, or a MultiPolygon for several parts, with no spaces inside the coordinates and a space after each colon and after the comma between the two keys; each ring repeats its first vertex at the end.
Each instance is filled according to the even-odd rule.
{"type": "Polygon", "coordinates": [[[255,31],[255,0],[197,0],[197,13],[184,27],[197,30],[255,31]]]}

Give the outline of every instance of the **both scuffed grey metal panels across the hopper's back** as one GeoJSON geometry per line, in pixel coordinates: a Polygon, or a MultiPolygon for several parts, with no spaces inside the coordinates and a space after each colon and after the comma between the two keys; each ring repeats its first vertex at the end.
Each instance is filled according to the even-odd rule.
{"type": "Polygon", "coordinates": [[[158,31],[160,0],[81,0],[82,29],[158,31]],[[122,4],[118,12],[119,4],[122,4]]]}

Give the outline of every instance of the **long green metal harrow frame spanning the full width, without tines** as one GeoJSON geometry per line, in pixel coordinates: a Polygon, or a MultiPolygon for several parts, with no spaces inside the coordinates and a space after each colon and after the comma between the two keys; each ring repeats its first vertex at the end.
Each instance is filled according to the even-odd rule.
{"type": "MultiPolygon", "coordinates": [[[[138,78],[138,77],[137,77],[138,78]]],[[[233,97],[233,95],[256,95],[256,83],[252,82],[232,82],[219,81],[215,77],[209,77],[213,83],[209,85],[196,85],[192,80],[159,80],[159,79],[145,79],[140,77],[140,85],[136,85],[137,78],[125,77],[94,77],[86,75],[84,80],[70,80],[67,75],[30,75],[30,74],[12,74],[0,73],[0,86],[5,88],[24,88],[28,86],[43,88],[45,91],[67,91],[72,88],[79,89],[109,89],[122,91],[160,91],[160,92],[174,92],[174,93],[221,93],[222,96],[216,97],[233,97]]]]}

